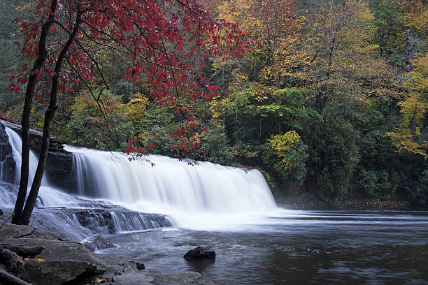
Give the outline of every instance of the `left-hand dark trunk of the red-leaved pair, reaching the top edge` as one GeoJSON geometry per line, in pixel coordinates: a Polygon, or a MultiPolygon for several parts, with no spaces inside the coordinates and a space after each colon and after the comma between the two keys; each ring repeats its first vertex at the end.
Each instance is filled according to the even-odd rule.
{"type": "Polygon", "coordinates": [[[21,177],[20,177],[20,188],[17,193],[15,209],[15,215],[12,218],[12,224],[19,224],[20,217],[22,214],[22,207],[24,207],[25,196],[27,196],[28,188],[28,175],[29,175],[29,119],[31,115],[31,105],[33,104],[34,93],[36,92],[36,84],[38,73],[40,72],[48,52],[46,51],[46,39],[48,38],[49,29],[53,24],[54,13],[57,9],[57,0],[53,0],[50,6],[52,14],[49,16],[48,21],[43,24],[41,29],[41,35],[38,41],[38,57],[34,61],[33,68],[29,75],[27,91],[25,92],[24,110],[22,111],[21,120],[21,138],[22,138],[22,152],[21,152],[21,177]]]}

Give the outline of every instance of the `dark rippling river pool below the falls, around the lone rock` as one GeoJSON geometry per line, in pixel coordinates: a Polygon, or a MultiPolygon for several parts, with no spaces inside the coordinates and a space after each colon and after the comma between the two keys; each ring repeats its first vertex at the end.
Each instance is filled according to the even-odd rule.
{"type": "Polygon", "coordinates": [[[163,273],[197,271],[229,284],[428,284],[428,212],[285,211],[222,231],[169,228],[108,237],[163,273]],[[214,262],[183,255],[202,245],[214,262]]]}

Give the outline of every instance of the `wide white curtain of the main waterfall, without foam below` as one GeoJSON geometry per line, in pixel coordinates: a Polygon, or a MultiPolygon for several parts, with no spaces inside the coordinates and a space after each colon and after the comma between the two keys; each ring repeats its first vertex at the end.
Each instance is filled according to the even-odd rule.
{"type": "Polygon", "coordinates": [[[128,161],[120,152],[64,147],[73,153],[79,193],[150,212],[262,212],[276,207],[259,170],[150,155],[128,161]],[[155,166],[152,166],[155,163],[155,166]]]}

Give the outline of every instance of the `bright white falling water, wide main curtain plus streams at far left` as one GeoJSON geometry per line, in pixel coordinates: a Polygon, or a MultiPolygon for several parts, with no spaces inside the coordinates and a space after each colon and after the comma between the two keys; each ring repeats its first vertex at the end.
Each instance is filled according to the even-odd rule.
{"type": "MultiPolygon", "coordinates": [[[[22,140],[11,129],[6,128],[6,133],[19,182],[22,140]]],[[[120,152],[70,145],[64,149],[73,153],[79,196],[108,200],[137,212],[166,214],[178,227],[217,229],[264,224],[264,217],[278,214],[269,186],[258,170],[201,161],[188,166],[187,161],[159,155],[150,155],[150,162],[128,161],[128,156],[120,152]]],[[[30,152],[29,187],[37,161],[36,154],[30,152]]],[[[76,198],[50,187],[48,177],[43,178],[39,198],[44,206],[79,207],[76,198]]]]}

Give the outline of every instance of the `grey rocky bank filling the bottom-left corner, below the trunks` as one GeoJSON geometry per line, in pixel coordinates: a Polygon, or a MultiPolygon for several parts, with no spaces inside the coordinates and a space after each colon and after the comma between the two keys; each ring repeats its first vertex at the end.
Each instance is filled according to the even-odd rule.
{"type": "Polygon", "coordinates": [[[0,228],[0,284],[215,285],[198,272],[162,275],[137,270],[117,256],[103,259],[57,233],[12,224],[0,228]]]}

